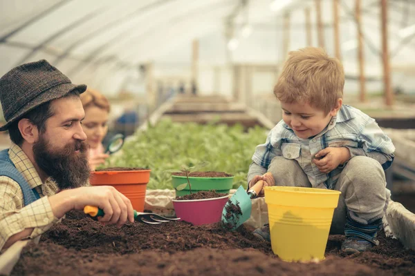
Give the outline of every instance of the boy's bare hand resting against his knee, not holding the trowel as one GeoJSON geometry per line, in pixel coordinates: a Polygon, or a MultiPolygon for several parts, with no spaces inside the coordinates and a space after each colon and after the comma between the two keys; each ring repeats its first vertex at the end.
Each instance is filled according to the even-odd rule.
{"type": "Polygon", "coordinates": [[[320,172],[327,174],[349,159],[350,152],[348,148],[328,147],[317,152],[313,162],[320,172]]]}

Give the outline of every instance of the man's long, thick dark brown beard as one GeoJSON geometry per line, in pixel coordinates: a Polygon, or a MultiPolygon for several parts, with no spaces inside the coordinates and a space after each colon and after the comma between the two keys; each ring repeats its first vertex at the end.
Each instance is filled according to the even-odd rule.
{"type": "Polygon", "coordinates": [[[65,190],[84,186],[88,181],[90,168],[87,149],[84,141],[77,140],[62,150],[55,150],[50,148],[44,135],[40,135],[39,141],[33,144],[33,155],[37,166],[52,177],[59,190],[65,190]]]}

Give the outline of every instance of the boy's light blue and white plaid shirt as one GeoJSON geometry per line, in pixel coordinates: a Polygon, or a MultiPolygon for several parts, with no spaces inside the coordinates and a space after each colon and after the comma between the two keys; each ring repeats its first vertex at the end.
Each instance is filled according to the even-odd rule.
{"type": "Polygon", "coordinates": [[[314,155],[327,147],[356,149],[351,152],[351,157],[370,157],[370,152],[381,152],[388,160],[382,164],[384,170],[389,168],[394,160],[394,144],[382,132],[376,121],[357,108],[343,105],[329,125],[310,139],[300,139],[283,120],[279,121],[277,126],[270,130],[266,143],[257,146],[252,161],[268,169],[271,160],[276,156],[295,159],[313,187],[333,189],[345,165],[338,166],[326,175],[312,162],[314,155]]]}

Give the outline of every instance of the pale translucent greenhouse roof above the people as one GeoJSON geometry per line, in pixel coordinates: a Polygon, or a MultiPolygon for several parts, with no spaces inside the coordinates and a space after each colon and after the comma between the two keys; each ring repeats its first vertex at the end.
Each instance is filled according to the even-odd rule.
{"type": "MultiPolygon", "coordinates": [[[[357,74],[355,0],[339,0],[342,61],[357,74]]],[[[365,71],[382,75],[380,0],[361,0],[365,71]]],[[[225,65],[283,59],[284,12],[291,12],[289,49],[306,45],[304,10],[310,9],[317,46],[314,0],[0,0],[0,75],[47,59],[74,82],[111,84],[117,90],[131,70],[148,62],[188,66],[199,39],[199,63],[225,65]],[[248,34],[250,32],[250,34],[248,34]],[[228,35],[226,35],[228,34],[228,35]],[[116,83],[116,84],[114,84],[116,83]]],[[[334,54],[333,0],[322,0],[324,46],[334,54]]],[[[393,70],[412,70],[415,1],[388,1],[393,70]],[[409,69],[408,69],[409,68],[409,69]]]]}

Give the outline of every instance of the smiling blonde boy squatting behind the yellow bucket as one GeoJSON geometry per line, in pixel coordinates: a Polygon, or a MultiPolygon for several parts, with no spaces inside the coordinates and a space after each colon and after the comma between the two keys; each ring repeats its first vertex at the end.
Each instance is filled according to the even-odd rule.
{"type": "MultiPolygon", "coordinates": [[[[342,105],[343,86],[342,64],[321,48],[290,52],[274,88],[283,119],[257,146],[248,185],[340,190],[331,233],[346,235],[351,254],[378,244],[395,147],[374,119],[342,105]]],[[[270,240],[269,226],[254,234],[270,240]]]]}

